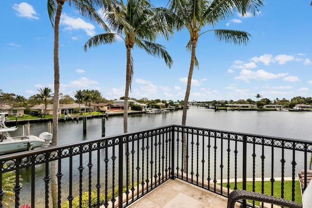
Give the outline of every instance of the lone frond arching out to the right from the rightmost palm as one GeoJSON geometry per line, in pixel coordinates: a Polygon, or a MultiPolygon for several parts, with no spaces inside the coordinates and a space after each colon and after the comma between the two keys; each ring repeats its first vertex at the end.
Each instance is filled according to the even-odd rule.
{"type": "Polygon", "coordinates": [[[215,38],[219,41],[234,43],[235,45],[246,45],[251,35],[244,31],[238,30],[214,30],[215,38]]]}

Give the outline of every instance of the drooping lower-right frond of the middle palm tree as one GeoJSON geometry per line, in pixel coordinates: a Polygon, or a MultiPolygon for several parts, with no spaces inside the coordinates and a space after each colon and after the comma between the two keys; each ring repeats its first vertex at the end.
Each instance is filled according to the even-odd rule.
{"type": "Polygon", "coordinates": [[[152,55],[154,57],[161,57],[162,59],[164,59],[166,65],[171,68],[173,64],[172,57],[169,55],[163,45],[147,40],[137,41],[137,44],[140,48],[143,48],[149,55],[152,55]]]}

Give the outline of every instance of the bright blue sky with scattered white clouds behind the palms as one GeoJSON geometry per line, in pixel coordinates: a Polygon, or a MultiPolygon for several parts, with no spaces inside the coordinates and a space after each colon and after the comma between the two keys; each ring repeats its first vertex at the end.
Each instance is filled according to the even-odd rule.
{"type": "MultiPolygon", "coordinates": [[[[167,0],[151,0],[166,6],[167,0]]],[[[246,31],[247,46],[219,42],[213,33],[201,36],[189,100],[238,100],[260,94],[264,98],[312,96],[311,0],[265,0],[261,12],[234,15],[215,29],[246,31]]],[[[1,3],[0,89],[28,98],[39,88],[54,91],[54,31],[46,0],[6,0],[1,3]]],[[[202,32],[212,28],[203,28],[202,32]]],[[[124,95],[126,50],[123,41],[83,51],[85,42],[103,30],[63,7],[60,22],[60,93],[96,89],[106,99],[124,95]]],[[[191,55],[187,31],[169,41],[158,39],[173,57],[169,69],[160,58],[134,48],[134,77],[130,97],[183,100],[191,55]]]]}

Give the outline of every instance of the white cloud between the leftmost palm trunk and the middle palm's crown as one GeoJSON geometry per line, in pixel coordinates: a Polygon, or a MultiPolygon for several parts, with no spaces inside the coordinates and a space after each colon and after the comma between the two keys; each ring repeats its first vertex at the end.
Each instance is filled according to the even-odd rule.
{"type": "Polygon", "coordinates": [[[88,23],[81,18],[75,19],[75,18],[69,17],[66,13],[61,15],[61,19],[59,23],[61,25],[66,25],[67,27],[65,27],[65,30],[68,30],[68,31],[81,29],[81,30],[84,30],[89,36],[94,36],[96,34],[95,32],[96,27],[93,24],[88,23]]]}

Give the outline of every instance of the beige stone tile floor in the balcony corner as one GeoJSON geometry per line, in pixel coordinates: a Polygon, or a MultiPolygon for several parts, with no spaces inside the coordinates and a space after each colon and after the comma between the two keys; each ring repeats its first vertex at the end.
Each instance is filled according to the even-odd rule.
{"type": "Polygon", "coordinates": [[[185,181],[168,180],[127,208],[226,208],[227,198],[185,181]]]}

